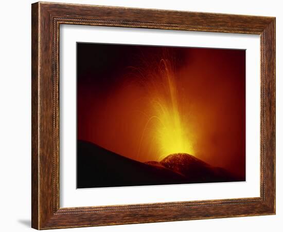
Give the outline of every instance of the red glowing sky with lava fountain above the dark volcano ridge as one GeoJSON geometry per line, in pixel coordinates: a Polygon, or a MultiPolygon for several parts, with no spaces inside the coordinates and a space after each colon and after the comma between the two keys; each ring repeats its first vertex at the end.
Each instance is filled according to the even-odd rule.
{"type": "Polygon", "coordinates": [[[245,51],[77,45],[78,139],[158,161],[186,152],[245,175],[245,51]]]}

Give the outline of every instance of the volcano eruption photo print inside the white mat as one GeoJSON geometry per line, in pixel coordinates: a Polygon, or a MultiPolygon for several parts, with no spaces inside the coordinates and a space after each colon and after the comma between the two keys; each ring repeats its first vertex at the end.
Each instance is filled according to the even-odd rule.
{"type": "Polygon", "coordinates": [[[77,188],[245,181],[245,50],[77,43],[77,188]]]}

